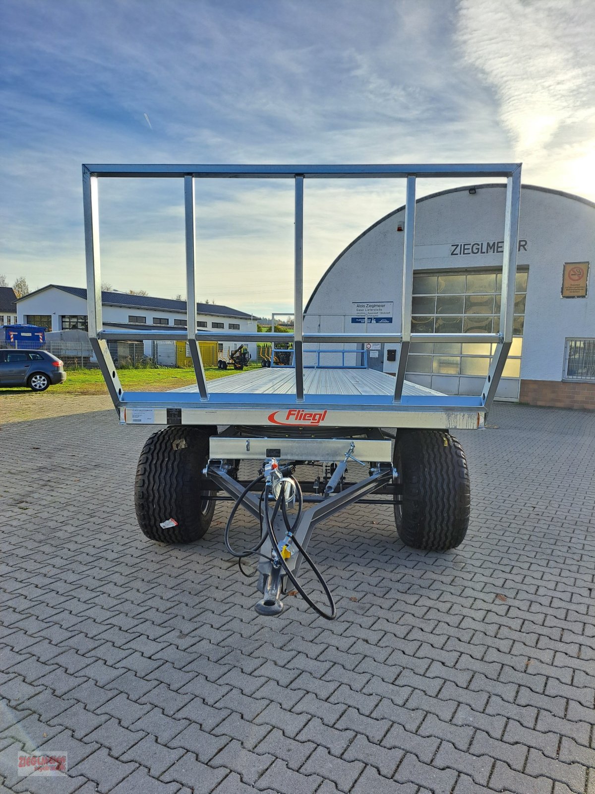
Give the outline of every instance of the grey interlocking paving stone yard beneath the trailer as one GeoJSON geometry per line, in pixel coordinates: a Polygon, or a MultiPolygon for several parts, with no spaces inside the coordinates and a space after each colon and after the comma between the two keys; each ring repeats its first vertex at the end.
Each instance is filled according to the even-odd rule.
{"type": "Polygon", "coordinates": [[[117,794],[595,792],[595,418],[498,404],[461,432],[455,551],[355,506],[311,544],[336,622],[255,615],[222,542],[136,526],[148,427],[0,427],[0,788],[117,794]],[[497,427],[493,427],[497,426],[497,427]],[[68,778],[17,777],[65,751],[68,778]]]}

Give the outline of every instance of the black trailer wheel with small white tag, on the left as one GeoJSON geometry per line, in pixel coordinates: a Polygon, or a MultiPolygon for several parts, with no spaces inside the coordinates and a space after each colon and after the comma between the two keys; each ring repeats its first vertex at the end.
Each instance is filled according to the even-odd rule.
{"type": "Polygon", "coordinates": [[[216,427],[166,427],[140,453],[134,507],[140,529],[161,543],[197,541],[209,529],[217,491],[201,493],[209,436],[216,427]],[[164,526],[165,525],[165,526],[164,526]]]}

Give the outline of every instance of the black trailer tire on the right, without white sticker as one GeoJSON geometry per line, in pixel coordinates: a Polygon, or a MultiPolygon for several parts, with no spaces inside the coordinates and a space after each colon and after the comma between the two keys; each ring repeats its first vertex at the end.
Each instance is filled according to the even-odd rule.
{"type": "Polygon", "coordinates": [[[459,441],[445,430],[401,431],[393,465],[403,488],[402,504],[394,506],[401,541],[414,549],[455,549],[470,513],[469,470],[459,441]]]}

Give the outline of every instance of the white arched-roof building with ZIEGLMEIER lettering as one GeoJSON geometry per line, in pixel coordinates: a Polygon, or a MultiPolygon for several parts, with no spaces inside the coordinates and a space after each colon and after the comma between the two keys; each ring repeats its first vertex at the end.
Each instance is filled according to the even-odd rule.
{"type": "MultiPolygon", "coordinates": [[[[474,185],[418,200],[413,331],[497,332],[504,187],[474,185]]],[[[305,330],[360,323],[370,332],[379,324],[399,330],[404,219],[401,207],[336,258],[306,306],[305,330]]],[[[595,204],[525,185],[519,238],[515,338],[498,396],[595,408],[595,204]]],[[[396,346],[377,347],[368,366],[394,372],[396,346]]],[[[479,394],[491,353],[490,345],[413,344],[407,378],[447,394],[479,394]]]]}

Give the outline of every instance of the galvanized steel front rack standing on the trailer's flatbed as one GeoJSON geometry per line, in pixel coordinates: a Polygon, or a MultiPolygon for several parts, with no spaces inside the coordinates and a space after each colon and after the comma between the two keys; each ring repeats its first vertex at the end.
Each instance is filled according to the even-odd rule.
{"type": "MultiPolygon", "coordinates": [[[[200,341],[234,341],[234,342],[266,342],[293,341],[295,363],[295,396],[283,395],[284,404],[303,406],[309,403],[309,395],[304,394],[303,345],[305,343],[337,343],[350,342],[390,342],[399,344],[397,359],[397,376],[393,399],[383,406],[392,410],[411,410],[417,407],[425,412],[443,413],[445,410],[455,413],[457,408],[464,413],[470,410],[486,414],[496,393],[497,384],[504,369],[506,357],[512,343],[512,314],[514,306],[514,288],[516,275],[516,252],[518,250],[518,227],[520,208],[520,164],[410,164],[410,165],[83,165],[83,206],[85,222],[86,251],[86,283],[89,318],[89,336],[95,356],[106,379],[109,395],[114,406],[120,410],[125,407],[143,407],[150,399],[149,393],[141,392],[125,394],[122,390],[117,370],[109,354],[109,340],[180,340],[187,341],[194,364],[198,387],[198,401],[192,406],[201,404],[209,408],[213,422],[213,410],[217,408],[218,398],[209,395],[205,380],[205,371],[197,342],[200,341]],[[417,177],[505,177],[506,209],[504,254],[502,261],[502,296],[499,333],[411,333],[411,306],[413,296],[413,246],[415,239],[415,195],[417,177]],[[184,206],[186,223],[186,331],[155,331],[155,330],[106,330],[102,322],[101,299],[101,268],[99,253],[99,214],[98,214],[98,179],[114,177],[159,177],[178,178],[184,182],[184,206]],[[303,223],[304,223],[304,180],[305,179],[394,179],[406,181],[405,202],[405,244],[403,255],[403,294],[401,308],[401,330],[397,333],[304,333],[303,330],[303,223]],[[295,186],[295,246],[294,246],[294,333],[244,333],[235,332],[198,332],[196,326],[197,303],[197,246],[195,237],[195,179],[294,179],[295,186]],[[497,343],[489,373],[486,377],[482,395],[478,398],[434,399],[425,398],[423,403],[403,396],[403,381],[409,345],[412,342],[462,342],[497,343]],[[413,401],[413,402],[412,402],[413,401]]],[[[367,330],[367,329],[366,329],[367,330]]],[[[263,407],[270,402],[267,395],[247,394],[236,395],[237,407],[245,403],[263,407]]],[[[314,395],[312,395],[314,397],[314,395]]],[[[167,401],[167,398],[165,398],[167,401]]],[[[386,398],[385,401],[388,401],[386,398]]],[[[315,402],[321,402],[321,395],[316,395],[315,402]]],[[[378,401],[374,401],[374,409],[378,410],[378,401]]],[[[173,401],[172,401],[173,404],[173,401]]],[[[159,407],[164,407],[159,400],[159,407]]],[[[223,406],[221,406],[223,407],[223,406]]],[[[225,410],[229,410],[225,402],[225,410]]],[[[346,406],[347,407],[347,406],[346,406]]],[[[370,402],[362,402],[359,398],[349,400],[348,410],[365,412],[370,410],[370,402]]],[[[196,411],[193,411],[196,414],[196,411]]],[[[466,420],[468,422],[468,420],[466,420]]],[[[365,422],[359,422],[364,424],[365,422]]]]}

